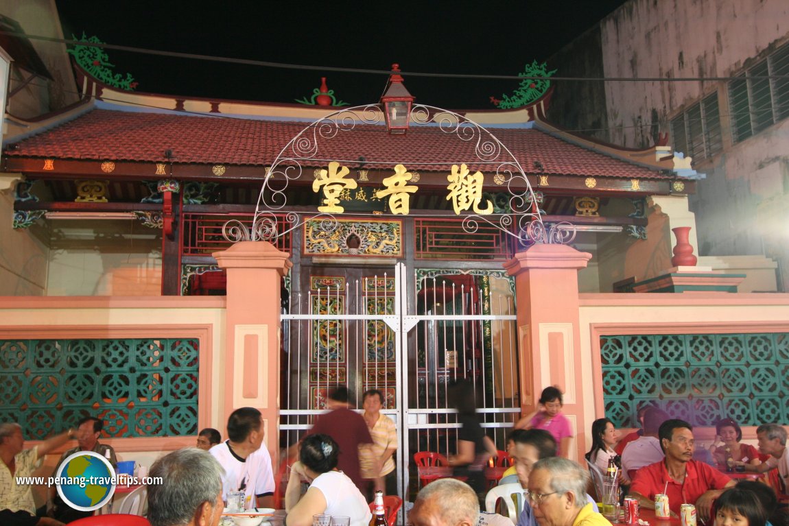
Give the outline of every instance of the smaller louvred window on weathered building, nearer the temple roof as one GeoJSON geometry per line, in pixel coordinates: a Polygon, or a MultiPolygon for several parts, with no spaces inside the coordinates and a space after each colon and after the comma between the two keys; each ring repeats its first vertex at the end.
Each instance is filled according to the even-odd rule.
{"type": "Polygon", "coordinates": [[[718,94],[706,96],[671,119],[671,136],[675,150],[694,159],[705,159],[718,153],[723,148],[718,94]]]}

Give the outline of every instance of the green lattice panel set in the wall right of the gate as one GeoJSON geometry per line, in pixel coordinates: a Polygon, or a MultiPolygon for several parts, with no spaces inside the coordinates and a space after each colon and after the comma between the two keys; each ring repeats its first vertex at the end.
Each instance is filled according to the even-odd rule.
{"type": "Polygon", "coordinates": [[[600,338],[605,416],[638,426],[652,402],[712,426],[789,420],[789,334],[630,334],[600,338]]]}

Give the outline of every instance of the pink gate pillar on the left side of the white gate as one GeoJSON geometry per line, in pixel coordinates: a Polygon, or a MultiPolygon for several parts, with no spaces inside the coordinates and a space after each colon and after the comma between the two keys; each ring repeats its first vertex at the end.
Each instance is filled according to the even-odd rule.
{"type": "MultiPolygon", "coordinates": [[[[241,241],[214,252],[227,271],[224,382],[220,421],[239,407],[263,413],[265,444],[276,459],[279,450],[279,290],[293,263],[267,241],[241,241]]],[[[224,434],[224,432],[222,433],[224,434]]]]}

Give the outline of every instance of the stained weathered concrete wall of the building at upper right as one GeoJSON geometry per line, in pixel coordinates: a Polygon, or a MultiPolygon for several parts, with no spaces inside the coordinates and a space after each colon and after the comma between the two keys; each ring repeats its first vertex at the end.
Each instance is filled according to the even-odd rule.
{"type": "MultiPolygon", "coordinates": [[[[728,77],[789,42],[786,0],[630,0],[600,21],[600,47],[588,32],[549,62],[563,74],[574,59],[600,54],[604,75],[612,77],[728,77]]],[[[723,151],[694,159],[706,173],[690,196],[696,215],[697,256],[767,256],[778,263],[778,289],[789,287],[789,239],[783,203],[789,175],[789,121],[779,122],[732,144],[726,80],[608,81],[605,102],[569,84],[563,94],[580,111],[550,115],[564,126],[597,120],[608,130],[597,137],[626,147],[653,144],[656,132],[670,132],[669,120],[701,97],[718,94],[723,151]],[[604,110],[601,110],[601,105],[604,110]]],[[[669,136],[669,144],[673,137],[669,136]]]]}

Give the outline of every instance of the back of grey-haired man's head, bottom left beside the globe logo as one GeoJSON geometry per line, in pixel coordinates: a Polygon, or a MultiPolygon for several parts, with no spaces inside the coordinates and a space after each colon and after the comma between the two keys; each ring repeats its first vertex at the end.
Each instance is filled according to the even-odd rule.
{"type": "Polygon", "coordinates": [[[163,484],[148,486],[151,526],[217,526],[222,515],[222,466],[203,450],[169,453],[151,466],[163,484]]]}

